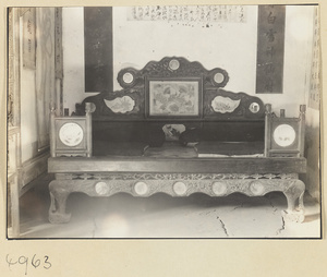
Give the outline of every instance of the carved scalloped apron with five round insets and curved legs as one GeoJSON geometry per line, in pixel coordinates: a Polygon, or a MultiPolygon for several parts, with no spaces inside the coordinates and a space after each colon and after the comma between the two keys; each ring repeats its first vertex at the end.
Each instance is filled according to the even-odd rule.
{"type": "Polygon", "coordinates": [[[198,192],[209,196],[226,196],[234,192],[261,196],[280,191],[288,201],[283,217],[292,221],[304,220],[305,185],[298,179],[296,173],[57,173],[49,189],[49,220],[53,224],[70,220],[65,204],[68,196],[73,192],[83,192],[89,196],[110,196],[124,192],[147,197],[155,193],[189,196],[198,192]]]}

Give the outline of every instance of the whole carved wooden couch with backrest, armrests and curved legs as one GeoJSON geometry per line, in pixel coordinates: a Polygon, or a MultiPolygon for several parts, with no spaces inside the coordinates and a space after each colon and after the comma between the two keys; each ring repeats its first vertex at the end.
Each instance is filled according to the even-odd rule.
{"type": "MultiPolygon", "coordinates": [[[[272,191],[280,191],[287,197],[284,218],[303,221],[305,185],[299,174],[306,172],[303,157],[305,106],[301,106],[299,118],[287,118],[284,110],[277,117],[271,106],[265,107],[258,97],[222,89],[228,80],[222,69],[208,71],[198,62],[166,57],[148,62],[142,70],[121,70],[118,82],[123,89],[87,97],[76,106],[73,117],[56,117],[53,110],[52,157],[48,171],[56,174],[56,180],[49,184],[50,222],[70,220],[65,204],[74,192],[89,196],[124,192],[147,197],[159,192],[171,196],[198,192],[210,196],[234,192],[259,196],[272,191]],[[174,107],[178,101],[187,107],[174,107]],[[64,129],[72,123],[74,129],[64,129]],[[154,137],[147,134],[152,132],[135,132],[133,127],[137,124],[142,125],[142,131],[162,133],[168,124],[183,125],[180,138],[185,141],[177,142],[179,146],[174,145],[173,149],[187,149],[193,142],[187,141],[189,134],[196,132],[198,145],[210,141],[210,145],[230,143],[229,146],[237,147],[238,142],[238,145],[250,147],[255,143],[263,145],[257,148],[262,153],[221,156],[214,152],[201,153],[197,147],[192,157],[178,156],[178,150],[174,156],[146,156],[145,152],[129,156],[123,155],[124,149],[119,156],[104,154],[108,148],[118,147],[121,141],[132,146],[137,141],[149,145],[147,149],[150,149],[154,137]],[[129,133],[130,129],[133,132],[129,133]],[[110,132],[106,133],[108,130],[110,132]],[[93,156],[92,152],[95,153],[100,143],[105,143],[105,147],[97,153],[104,155],[93,156]]],[[[155,146],[157,152],[162,149],[164,153],[165,135],[155,146]]]]}

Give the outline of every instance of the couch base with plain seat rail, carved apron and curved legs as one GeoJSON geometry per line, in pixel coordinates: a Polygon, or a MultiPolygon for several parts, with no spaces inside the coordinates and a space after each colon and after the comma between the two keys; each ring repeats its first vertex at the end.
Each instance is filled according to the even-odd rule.
{"type": "Polygon", "coordinates": [[[304,220],[305,158],[149,158],[149,157],[52,157],[48,170],[56,180],[49,184],[49,221],[68,222],[68,196],[83,192],[89,196],[110,196],[124,192],[150,196],[162,192],[187,196],[202,192],[226,196],[240,192],[249,196],[282,192],[288,207],[286,220],[304,220]]]}

